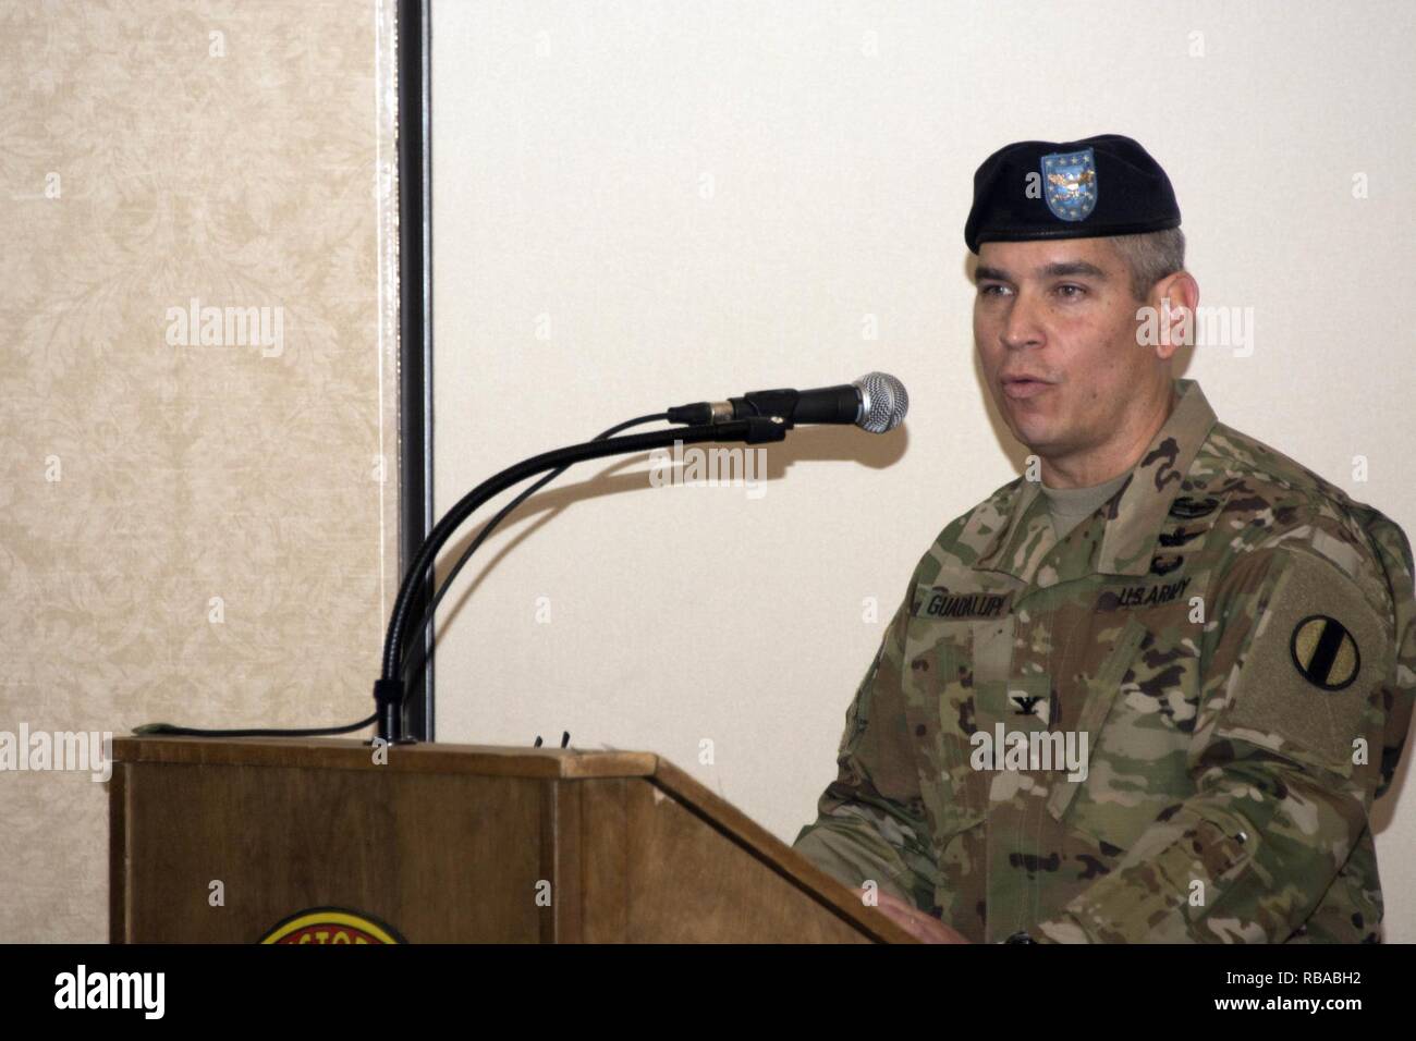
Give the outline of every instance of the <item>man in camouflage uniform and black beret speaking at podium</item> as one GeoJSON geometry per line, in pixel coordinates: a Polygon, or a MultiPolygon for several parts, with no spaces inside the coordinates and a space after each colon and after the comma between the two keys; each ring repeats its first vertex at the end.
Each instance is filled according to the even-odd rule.
{"type": "Polygon", "coordinates": [[[1198,302],[1178,224],[1126,137],[976,177],[976,344],[1041,467],[925,554],[794,843],[922,939],[1381,939],[1410,545],[1138,346],[1198,302]]]}

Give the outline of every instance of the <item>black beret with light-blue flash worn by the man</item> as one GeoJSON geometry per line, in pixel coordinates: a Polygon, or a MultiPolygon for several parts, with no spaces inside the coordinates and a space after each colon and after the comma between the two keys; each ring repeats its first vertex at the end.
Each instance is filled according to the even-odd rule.
{"type": "Polygon", "coordinates": [[[1017,142],[983,161],[964,242],[1138,235],[1180,227],[1160,163],[1119,133],[1079,142],[1017,142]]]}

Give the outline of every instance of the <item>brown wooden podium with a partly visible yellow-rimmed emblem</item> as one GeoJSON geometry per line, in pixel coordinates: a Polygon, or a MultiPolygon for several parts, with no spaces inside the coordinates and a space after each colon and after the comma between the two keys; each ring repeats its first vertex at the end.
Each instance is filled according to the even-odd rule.
{"type": "Polygon", "coordinates": [[[375,763],[360,741],[116,739],[110,939],[253,943],[338,908],[409,943],[915,942],[656,755],[387,755],[375,763]]]}

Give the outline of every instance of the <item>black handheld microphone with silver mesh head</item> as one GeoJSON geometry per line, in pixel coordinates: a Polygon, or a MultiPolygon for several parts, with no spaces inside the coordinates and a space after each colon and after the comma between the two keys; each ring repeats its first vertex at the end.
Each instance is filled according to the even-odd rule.
{"type": "Polygon", "coordinates": [[[871,433],[893,431],[905,422],[909,394],[885,372],[867,372],[855,382],[814,391],[748,391],[728,401],[700,401],[667,412],[671,423],[724,423],[750,416],[779,416],[787,425],[851,423],[871,433]]]}

